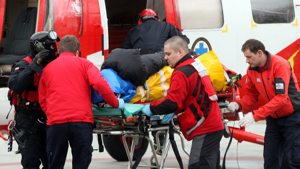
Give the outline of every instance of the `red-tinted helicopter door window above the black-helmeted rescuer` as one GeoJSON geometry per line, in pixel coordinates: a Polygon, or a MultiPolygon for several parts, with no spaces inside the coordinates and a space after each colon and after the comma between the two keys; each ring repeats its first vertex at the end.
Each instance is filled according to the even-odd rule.
{"type": "Polygon", "coordinates": [[[46,1],[44,31],[55,30],[58,35],[80,38],[82,23],[82,0],[46,1]]]}

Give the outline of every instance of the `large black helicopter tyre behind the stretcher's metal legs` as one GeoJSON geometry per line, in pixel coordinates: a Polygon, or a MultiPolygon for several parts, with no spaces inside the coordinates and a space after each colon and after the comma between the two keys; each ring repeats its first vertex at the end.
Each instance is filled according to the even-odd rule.
{"type": "MultiPolygon", "coordinates": [[[[147,136],[149,136],[149,133],[146,134],[147,136]]],[[[121,136],[119,135],[107,136],[105,134],[103,134],[102,136],[103,136],[102,138],[103,138],[104,147],[107,150],[107,152],[110,154],[110,156],[115,158],[117,161],[128,161],[128,157],[121,136]]],[[[140,153],[143,153],[144,155],[148,145],[149,145],[149,141],[147,139],[145,139],[142,143],[142,138],[140,138],[137,148],[134,149],[133,160],[136,160],[137,156],[140,153]],[[141,149],[142,144],[144,145],[143,150],[141,149]]],[[[131,147],[130,140],[128,142],[128,146],[131,147]]]]}

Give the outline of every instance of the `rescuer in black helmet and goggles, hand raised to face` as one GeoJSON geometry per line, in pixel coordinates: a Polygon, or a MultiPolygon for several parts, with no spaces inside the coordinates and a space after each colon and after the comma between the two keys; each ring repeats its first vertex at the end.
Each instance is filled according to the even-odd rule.
{"type": "Polygon", "coordinates": [[[11,67],[8,80],[10,103],[14,105],[13,136],[22,155],[23,168],[48,169],[46,152],[46,114],[38,98],[38,83],[42,69],[57,58],[55,31],[37,32],[30,38],[31,53],[11,67]]]}

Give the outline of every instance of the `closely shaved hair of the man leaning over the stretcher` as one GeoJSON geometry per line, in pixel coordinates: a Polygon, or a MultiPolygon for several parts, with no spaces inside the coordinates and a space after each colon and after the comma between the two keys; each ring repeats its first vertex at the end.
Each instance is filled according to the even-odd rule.
{"type": "Polygon", "coordinates": [[[175,52],[181,48],[185,54],[189,53],[187,41],[185,41],[181,36],[173,36],[172,38],[168,39],[164,45],[170,45],[170,48],[175,52]]]}

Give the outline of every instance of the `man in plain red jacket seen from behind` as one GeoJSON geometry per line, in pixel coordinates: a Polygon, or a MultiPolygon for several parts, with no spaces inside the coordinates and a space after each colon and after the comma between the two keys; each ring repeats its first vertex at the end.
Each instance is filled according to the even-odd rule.
{"type": "Polygon", "coordinates": [[[66,35],[59,45],[59,58],[44,68],[39,85],[39,101],[47,116],[47,153],[49,169],[63,168],[69,147],[73,168],[88,168],[93,147],[91,88],[112,107],[124,109],[100,70],[89,60],[76,57],[79,40],[66,35]]]}

